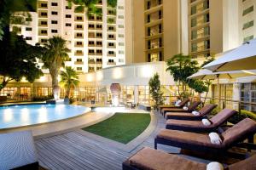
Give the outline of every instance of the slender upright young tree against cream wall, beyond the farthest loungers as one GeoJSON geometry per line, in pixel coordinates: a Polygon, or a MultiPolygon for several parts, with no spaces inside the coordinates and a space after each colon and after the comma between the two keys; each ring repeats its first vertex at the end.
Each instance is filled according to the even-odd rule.
{"type": "Polygon", "coordinates": [[[163,97],[163,93],[160,91],[159,74],[155,73],[154,77],[150,78],[148,85],[149,85],[149,93],[154,99],[154,108],[156,108],[158,105],[163,105],[164,97],[163,97]]]}

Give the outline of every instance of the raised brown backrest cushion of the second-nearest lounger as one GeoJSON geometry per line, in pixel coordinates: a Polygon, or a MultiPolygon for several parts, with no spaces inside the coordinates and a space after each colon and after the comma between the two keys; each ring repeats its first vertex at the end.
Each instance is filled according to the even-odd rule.
{"type": "Polygon", "coordinates": [[[236,141],[237,139],[240,139],[242,136],[245,136],[249,133],[255,133],[255,131],[256,122],[246,118],[222,133],[224,144],[232,144],[233,141],[236,141]]]}

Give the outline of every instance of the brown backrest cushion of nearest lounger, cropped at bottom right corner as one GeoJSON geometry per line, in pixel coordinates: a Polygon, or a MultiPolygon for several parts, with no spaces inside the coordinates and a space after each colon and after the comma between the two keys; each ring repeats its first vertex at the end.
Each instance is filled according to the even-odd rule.
{"type": "Polygon", "coordinates": [[[234,163],[228,167],[228,170],[253,170],[256,169],[256,155],[253,155],[243,161],[234,163]]]}

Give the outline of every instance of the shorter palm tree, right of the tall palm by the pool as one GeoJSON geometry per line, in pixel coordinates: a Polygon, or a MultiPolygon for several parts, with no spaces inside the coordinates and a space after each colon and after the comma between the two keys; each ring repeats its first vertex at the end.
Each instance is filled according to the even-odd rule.
{"type": "Polygon", "coordinates": [[[61,71],[61,84],[66,89],[65,98],[69,98],[70,89],[79,85],[78,73],[70,66],[67,66],[65,71],[61,71]]]}

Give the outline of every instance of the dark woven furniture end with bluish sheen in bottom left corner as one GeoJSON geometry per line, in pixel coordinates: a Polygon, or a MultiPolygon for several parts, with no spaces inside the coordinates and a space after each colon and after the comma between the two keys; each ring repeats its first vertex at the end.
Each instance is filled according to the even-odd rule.
{"type": "Polygon", "coordinates": [[[0,169],[38,169],[31,131],[0,134],[0,169]]]}

